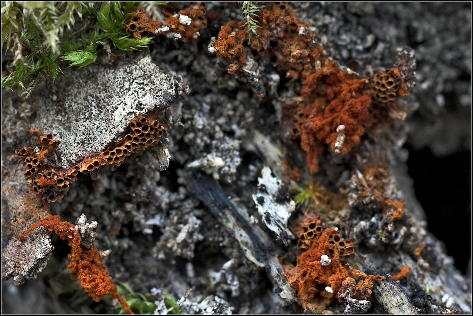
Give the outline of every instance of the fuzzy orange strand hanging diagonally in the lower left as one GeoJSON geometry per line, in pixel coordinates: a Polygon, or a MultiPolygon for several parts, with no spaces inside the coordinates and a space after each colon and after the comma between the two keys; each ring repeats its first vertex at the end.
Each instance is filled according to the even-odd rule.
{"type": "Polygon", "coordinates": [[[72,223],[61,221],[59,215],[51,215],[34,223],[28,230],[19,235],[20,239],[23,239],[38,226],[44,226],[49,231],[57,234],[59,238],[67,240],[72,248],[68,255],[70,262],[67,268],[72,272],[71,277],[79,280],[84,290],[94,301],[99,302],[105,295],[110,294],[114,299],[118,299],[125,313],[133,314],[126,300],[118,293],[117,286],[112,282],[109,271],[100,260],[97,248],[95,246],[85,247],[81,243],[79,232],[76,231],[72,223]]]}

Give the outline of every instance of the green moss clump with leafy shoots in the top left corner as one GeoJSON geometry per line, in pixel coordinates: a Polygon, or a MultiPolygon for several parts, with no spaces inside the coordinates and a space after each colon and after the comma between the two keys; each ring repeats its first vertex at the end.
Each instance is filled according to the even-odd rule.
{"type": "MultiPolygon", "coordinates": [[[[153,5],[160,4],[163,2],[153,5]]],[[[98,49],[104,48],[111,55],[112,47],[128,51],[147,46],[152,38],[133,38],[124,27],[129,12],[138,5],[139,2],[118,1],[88,5],[1,2],[2,50],[11,51],[14,66],[14,71],[2,76],[1,86],[12,89],[19,85],[29,95],[40,78],[56,79],[62,73],[58,64],[61,60],[69,66],[84,67],[97,59],[98,49]],[[25,80],[30,83],[28,87],[25,80]]]]}

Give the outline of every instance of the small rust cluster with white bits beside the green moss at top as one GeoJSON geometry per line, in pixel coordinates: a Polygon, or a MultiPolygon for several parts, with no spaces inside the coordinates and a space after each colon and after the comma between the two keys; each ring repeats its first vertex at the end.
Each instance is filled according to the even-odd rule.
{"type": "Polygon", "coordinates": [[[154,19],[146,14],[143,7],[139,7],[133,13],[131,20],[125,24],[128,31],[134,37],[141,37],[141,33],[147,31],[154,35],[166,35],[173,39],[182,39],[184,42],[189,38],[197,38],[200,31],[207,27],[207,4],[200,2],[177,14],[163,12],[168,17],[164,24],[159,19],[154,19]]]}

